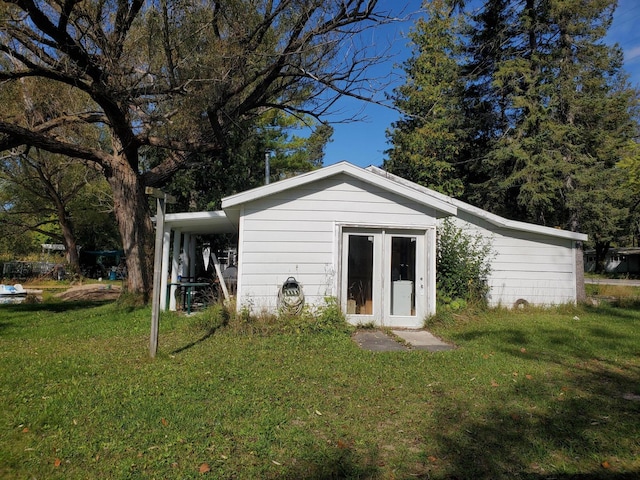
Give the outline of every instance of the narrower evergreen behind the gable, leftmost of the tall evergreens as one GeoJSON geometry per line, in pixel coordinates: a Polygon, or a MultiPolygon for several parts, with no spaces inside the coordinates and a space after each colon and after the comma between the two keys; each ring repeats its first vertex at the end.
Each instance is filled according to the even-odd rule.
{"type": "Polygon", "coordinates": [[[448,195],[460,195],[463,184],[455,163],[464,148],[463,84],[457,32],[461,17],[448,2],[425,6],[410,33],[415,53],[404,65],[407,83],[394,92],[402,118],[387,136],[392,148],[384,168],[396,175],[448,195]]]}

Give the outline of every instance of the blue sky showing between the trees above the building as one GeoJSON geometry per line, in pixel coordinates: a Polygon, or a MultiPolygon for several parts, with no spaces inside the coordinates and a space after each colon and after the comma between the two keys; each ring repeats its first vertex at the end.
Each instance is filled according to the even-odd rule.
{"type": "MultiPolygon", "coordinates": [[[[381,9],[394,16],[405,19],[393,25],[376,29],[375,42],[380,48],[388,46],[390,58],[373,70],[379,78],[389,78],[401,82],[403,75],[401,64],[411,55],[406,34],[411,29],[413,20],[420,9],[421,1],[381,0],[381,9]],[[413,13],[413,15],[411,15],[413,13]]],[[[609,30],[607,41],[617,42],[625,55],[625,70],[630,75],[632,84],[640,87],[640,1],[619,0],[614,15],[613,25],[609,30]]],[[[396,83],[398,84],[398,83],[396,83]]],[[[379,100],[384,99],[384,92],[379,93],[379,100]]],[[[336,118],[348,118],[357,115],[362,118],[357,122],[334,125],[333,141],[325,150],[325,165],[346,160],[355,165],[380,166],[385,157],[384,151],[389,148],[386,131],[398,114],[391,109],[375,104],[352,99],[343,99],[339,103],[340,114],[336,118]]]]}

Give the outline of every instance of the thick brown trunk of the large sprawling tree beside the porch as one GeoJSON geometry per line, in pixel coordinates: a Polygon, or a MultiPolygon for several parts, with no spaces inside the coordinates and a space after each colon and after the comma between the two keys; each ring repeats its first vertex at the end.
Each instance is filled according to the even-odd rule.
{"type": "Polygon", "coordinates": [[[107,180],[127,266],[127,291],[150,300],[153,278],[153,227],[144,186],[123,156],[114,155],[107,180]],[[119,161],[118,161],[119,160],[119,161]]]}

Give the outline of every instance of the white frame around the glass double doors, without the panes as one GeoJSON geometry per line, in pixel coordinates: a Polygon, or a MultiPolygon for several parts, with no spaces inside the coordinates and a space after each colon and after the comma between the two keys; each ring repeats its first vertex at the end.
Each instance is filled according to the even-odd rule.
{"type": "Polygon", "coordinates": [[[396,328],[422,328],[425,317],[435,313],[435,226],[400,226],[371,224],[336,224],[336,292],[347,321],[353,325],[374,324],[396,328]],[[347,313],[347,237],[348,234],[372,235],[378,239],[379,256],[374,244],[374,288],[378,284],[378,299],[371,315],[347,313]],[[393,236],[416,237],[415,315],[391,315],[391,257],[389,248],[393,236]],[[388,274],[387,274],[388,272],[388,274]],[[420,283],[422,281],[422,283],[420,283]]]}

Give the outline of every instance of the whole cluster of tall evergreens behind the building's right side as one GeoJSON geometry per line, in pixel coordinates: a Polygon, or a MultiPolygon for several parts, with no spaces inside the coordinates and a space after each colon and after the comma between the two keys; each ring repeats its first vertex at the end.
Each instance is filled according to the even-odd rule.
{"type": "Polygon", "coordinates": [[[447,4],[429,2],[412,34],[386,164],[419,159],[413,180],[495,213],[619,237],[638,94],[604,41],[616,2],[485,0],[466,22],[447,4]]]}

